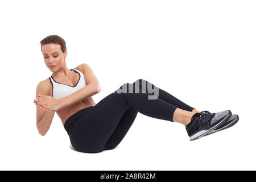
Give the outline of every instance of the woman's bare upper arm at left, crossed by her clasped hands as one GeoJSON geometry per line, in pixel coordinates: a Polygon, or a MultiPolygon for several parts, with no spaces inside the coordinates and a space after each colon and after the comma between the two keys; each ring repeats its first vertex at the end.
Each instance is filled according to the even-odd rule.
{"type": "MultiPolygon", "coordinates": [[[[49,96],[50,89],[45,81],[40,81],[38,86],[36,86],[36,95],[49,96]]],[[[43,109],[40,105],[36,105],[36,125],[41,121],[46,112],[47,110],[43,109]]]]}

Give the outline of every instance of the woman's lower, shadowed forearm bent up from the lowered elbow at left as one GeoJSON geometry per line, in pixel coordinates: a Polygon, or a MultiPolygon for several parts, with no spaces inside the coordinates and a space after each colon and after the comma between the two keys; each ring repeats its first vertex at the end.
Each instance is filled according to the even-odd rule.
{"type": "Polygon", "coordinates": [[[46,135],[47,131],[49,130],[49,127],[51,126],[54,114],[55,113],[47,111],[44,117],[41,119],[41,121],[37,123],[36,127],[38,128],[38,131],[41,135],[46,135]]]}

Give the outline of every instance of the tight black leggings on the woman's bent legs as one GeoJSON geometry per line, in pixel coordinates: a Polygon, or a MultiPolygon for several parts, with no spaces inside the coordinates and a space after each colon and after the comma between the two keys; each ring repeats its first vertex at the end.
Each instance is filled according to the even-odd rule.
{"type": "MultiPolygon", "coordinates": [[[[135,82],[123,84],[95,106],[86,107],[71,115],[65,122],[64,128],[72,147],[86,153],[111,150],[125,137],[138,112],[173,122],[172,117],[177,107],[187,111],[195,109],[160,88],[158,88],[158,98],[148,99],[148,95],[152,96],[154,93],[148,92],[147,86],[145,89],[142,81],[151,84],[143,79],[135,81],[136,85],[139,83],[138,87],[135,86],[135,82]],[[133,93],[129,90],[129,86],[133,88],[133,93]],[[123,88],[127,88],[126,93],[120,93],[120,89],[124,90],[123,88]],[[136,93],[135,89],[140,92],[136,93]]],[[[151,88],[157,88],[151,85],[151,88]]]]}

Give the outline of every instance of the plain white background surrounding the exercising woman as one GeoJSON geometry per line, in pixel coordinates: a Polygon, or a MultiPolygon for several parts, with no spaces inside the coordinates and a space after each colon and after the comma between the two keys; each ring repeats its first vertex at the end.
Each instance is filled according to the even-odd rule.
{"type": "Polygon", "coordinates": [[[255,1],[1,1],[2,170],[236,170],[255,167],[255,1]],[[184,125],[138,113],[114,149],[72,150],[57,114],[36,129],[36,85],[52,75],[40,40],[67,43],[68,68],[87,63],[102,91],[138,78],[197,110],[230,109],[227,130],[189,141],[184,125]]]}

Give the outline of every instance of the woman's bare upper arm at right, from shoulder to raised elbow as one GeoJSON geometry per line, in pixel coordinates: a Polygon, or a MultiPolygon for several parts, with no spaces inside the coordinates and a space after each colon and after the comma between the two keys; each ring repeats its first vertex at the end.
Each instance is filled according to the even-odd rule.
{"type": "Polygon", "coordinates": [[[81,69],[82,73],[84,73],[84,78],[86,85],[94,84],[97,86],[98,92],[100,92],[100,83],[98,82],[97,77],[94,75],[92,68],[86,63],[83,63],[78,66],[81,69]]]}

